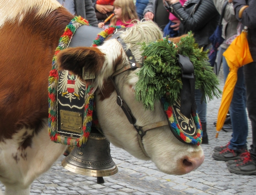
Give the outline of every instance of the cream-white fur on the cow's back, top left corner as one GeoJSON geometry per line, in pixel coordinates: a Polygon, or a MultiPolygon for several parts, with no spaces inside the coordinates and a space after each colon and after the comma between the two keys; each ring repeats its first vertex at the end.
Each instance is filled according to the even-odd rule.
{"type": "Polygon", "coordinates": [[[37,10],[37,16],[43,16],[60,6],[56,0],[1,0],[0,28],[6,22],[14,22],[16,17],[21,22],[23,16],[32,8],[37,10]]]}

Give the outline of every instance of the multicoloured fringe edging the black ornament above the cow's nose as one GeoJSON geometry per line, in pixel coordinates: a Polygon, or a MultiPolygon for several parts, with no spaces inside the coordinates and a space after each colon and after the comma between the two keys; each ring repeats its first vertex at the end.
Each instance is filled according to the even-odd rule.
{"type": "Polygon", "coordinates": [[[198,115],[195,115],[192,113],[192,117],[195,121],[196,129],[197,129],[197,135],[192,137],[190,135],[186,135],[181,131],[181,128],[179,124],[177,123],[175,113],[172,111],[172,106],[165,100],[165,98],[162,98],[163,103],[163,109],[166,112],[166,115],[169,120],[169,124],[171,125],[170,128],[172,128],[172,132],[174,132],[178,137],[180,137],[184,142],[186,143],[192,143],[194,145],[199,146],[202,142],[203,137],[203,131],[201,130],[201,121],[198,117],[198,115]]]}

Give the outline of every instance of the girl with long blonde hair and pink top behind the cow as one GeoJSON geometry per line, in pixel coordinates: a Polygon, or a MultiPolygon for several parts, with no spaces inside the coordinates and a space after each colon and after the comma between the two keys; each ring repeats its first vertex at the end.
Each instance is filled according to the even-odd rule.
{"type": "MultiPolygon", "coordinates": [[[[134,23],[136,23],[136,21],[133,20],[138,20],[138,16],[133,0],[115,0],[113,6],[113,12],[115,15],[111,19],[111,26],[134,26],[134,23]]],[[[99,23],[98,27],[104,28],[105,24],[99,23]]]]}

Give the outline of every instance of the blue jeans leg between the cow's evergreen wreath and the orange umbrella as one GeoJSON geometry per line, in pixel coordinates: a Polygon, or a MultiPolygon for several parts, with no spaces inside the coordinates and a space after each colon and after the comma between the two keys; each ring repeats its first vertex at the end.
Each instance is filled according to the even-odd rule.
{"type": "Polygon", "coordinates": [[[202,93],[200,89],[195,89],[195,104],[198,117],[201,123],[206,123],[206,114],[207,114],[207,103],[201,101],[202,93]]]}

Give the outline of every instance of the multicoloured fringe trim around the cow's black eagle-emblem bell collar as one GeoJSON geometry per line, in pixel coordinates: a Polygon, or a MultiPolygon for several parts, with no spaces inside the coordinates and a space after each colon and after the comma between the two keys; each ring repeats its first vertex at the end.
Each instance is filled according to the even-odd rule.
{"type": "MultiPolygon", "coordinates": [[[[89,26],[87,20],[82,18],[81,16],[74,17],[70,23],[66,26],[64,34],[61,36],[59,40],[58,47],[55,49],[55,54],[52,59],[52,70],[49,74],[49,87],[48,87],[48,102],[49,102],[49,118],[48,118],[48,132],[51,140],[55,143],[62,143],[68,146],[77,146],[83,147],[90,135],[92,123],[96,126],[98,130],[99,121],[97,120],[96,111],[95,111],[95,101],[94,94],[92,93],[93,87],[87,85],[86,86],[86,94],[87,98],[85,100],[84,106],[84,120],[82,126],[82,132],[80,138],[71,138],[65,137],[58,133],[58,123],[57,123],[57,86],[58,86],[58,70],[57,64],[55,62],[56,55],[63,49],[66,49],[70,43],[70,40],[73,34],[76,32],[76,29],[81,25],[89,26]]],[[[100,32],[96,39],[93,41],[93,47],[101,45],[105,38],[108,35],[113,34],[115,29],[123,28],[123,26],[110,26],[108,29],[100,32]]]]}

